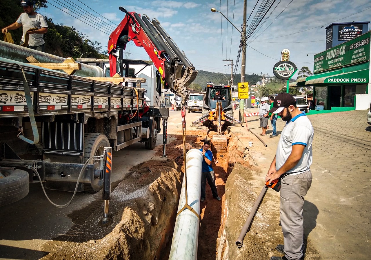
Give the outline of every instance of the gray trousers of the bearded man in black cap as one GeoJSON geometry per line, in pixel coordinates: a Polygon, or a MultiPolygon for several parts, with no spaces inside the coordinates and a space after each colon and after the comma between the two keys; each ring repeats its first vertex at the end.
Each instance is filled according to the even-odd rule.
{"type": "Polygon", "coordinates": [[[280,220],[285,254],[289,260],[299,260],[303,255],[304,196],[311,184],[311,170],[281,179],[280,220]]]}

